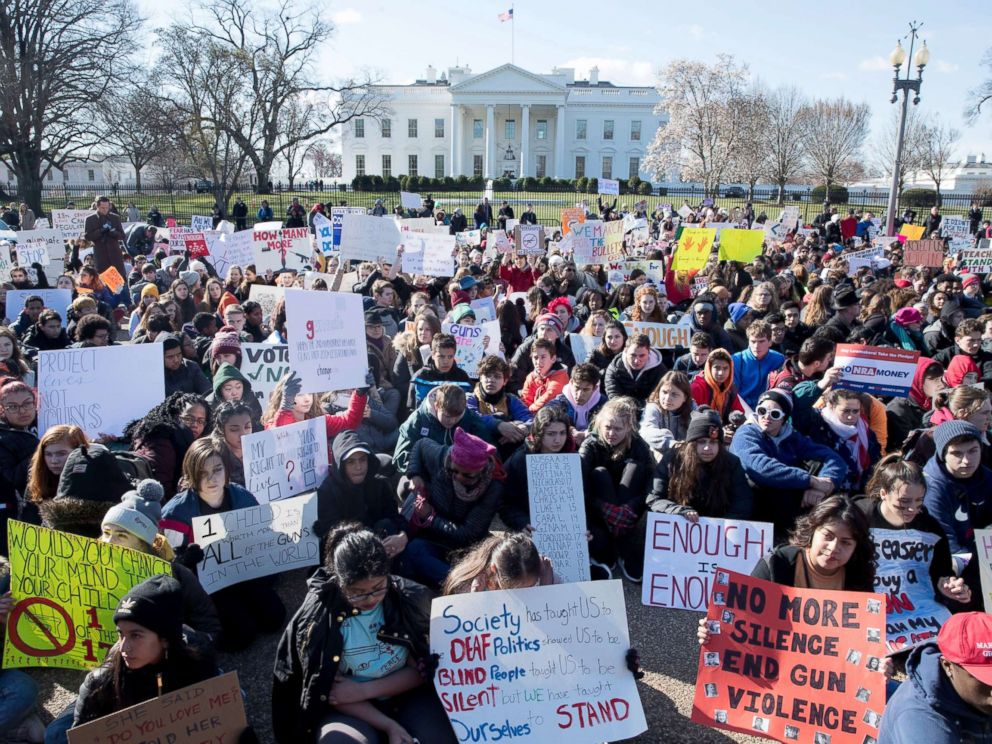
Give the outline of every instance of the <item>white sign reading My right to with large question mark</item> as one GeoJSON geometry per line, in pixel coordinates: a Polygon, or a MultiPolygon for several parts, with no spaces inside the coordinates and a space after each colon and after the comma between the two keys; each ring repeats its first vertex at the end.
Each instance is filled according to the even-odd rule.
{"type": "Polygon", "coordinates": [[[313,491],[327,477],[323,416],[248,434],[241,437],[241,447],[245,487],[260,504],[313,491]]]}

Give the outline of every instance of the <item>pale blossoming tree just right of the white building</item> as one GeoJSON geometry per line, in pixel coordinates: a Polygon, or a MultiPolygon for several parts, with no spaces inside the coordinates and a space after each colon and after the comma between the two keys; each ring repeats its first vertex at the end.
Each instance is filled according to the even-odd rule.
{"type": "Polygon", "coordinates": [[[741,124],[736,101],[743,94],[747,68],[721,54],[715,64],[679,59],[661,73],[656,113],[668,114],[648,147],[644,166],[655,179],[664,178],[673,163],[682,177],[701,181],[716,196],[731,167],[741,124]]]}

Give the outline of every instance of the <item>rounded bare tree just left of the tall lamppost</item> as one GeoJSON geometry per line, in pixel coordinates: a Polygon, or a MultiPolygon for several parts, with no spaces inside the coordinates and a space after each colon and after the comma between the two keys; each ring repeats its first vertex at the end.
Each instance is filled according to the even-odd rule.
{"type": "Polygon", "coordinates": [[[861,148],[868,137],[871,109],[846,98],[816,101],[799,114],[799,133],[810,174],[826,186],[856,178],[861,172],[861,148]]]}

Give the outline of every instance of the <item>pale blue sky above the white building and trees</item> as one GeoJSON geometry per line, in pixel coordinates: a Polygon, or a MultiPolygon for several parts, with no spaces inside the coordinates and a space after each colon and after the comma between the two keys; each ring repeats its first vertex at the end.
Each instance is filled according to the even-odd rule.
{"type": "MultiPolygon", "coordinates": [[[[138,5],[152,26],[162,26],[182,15],[184,1],[138,0],[138,5]]],[[[515,25],[515,62],[533,72],[557,65],[574,67],[576,76],[585,78],[598,65],[601,80],[651,84],[672,59],[712,61],[726,52],[771,87],[796,85],[810,96],[845,95],[869,103],[878,132],[896,108],[889,103],[889,52],[915,19],[923,21],[931,51],[921,113],[937,112],[961,130],[960,156],[985,152],[992,160],[992,110],[972,127],[962,116],[968,90],[982,78],[981,58],[992,47],[987,2],[715,0],[704,14],[685,3],[522,0],[513,3],[515,20],[500,23],[497,15],[509,5],[498,0],[321,3],[336,24],[321,67],[340,75],[372,68],[391,83],[423,77],[428,65],[443,70],[457,62],[483,72],[510,61],[515,25]]],[[[908,50],[908,43],[904,46],[908,50]]]]}

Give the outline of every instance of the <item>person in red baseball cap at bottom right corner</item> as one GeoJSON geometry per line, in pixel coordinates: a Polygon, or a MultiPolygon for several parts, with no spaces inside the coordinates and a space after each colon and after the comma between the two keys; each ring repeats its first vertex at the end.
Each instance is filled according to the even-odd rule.
{"type": "Polygon", "coordinates": [[[992,742],[992,616],[953,615],[936,643],[910,652],[906,677],[885,707],[879,744],[992,742]]]}

